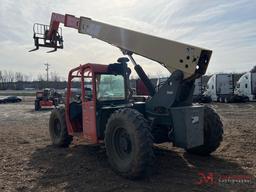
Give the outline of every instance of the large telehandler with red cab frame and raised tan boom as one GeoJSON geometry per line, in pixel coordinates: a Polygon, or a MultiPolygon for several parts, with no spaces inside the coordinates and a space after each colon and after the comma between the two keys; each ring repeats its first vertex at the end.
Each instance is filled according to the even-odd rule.
{"type": "Polygon", "coordinates": [[[104,142],[112,169],[128,178],[148,173],[154,143],[172,142],[198,155],[209,155],[219,147],[223,135],[220,117],[209,107],[192,105],[194,81],[205,74],[212,51],[57,13],[52,14],[50,26],[34,25],[34,50],[40,46],[53,51],[63,48],[60,23],[118,47],[134,64],[150,97],[145,102],[132,97],[126,57],[108,65],[87,63],[74,68],[68,75],[66,106],[54,109],[50,116],[54,145],[67,147],[74,136],[91,144],[104,142]],[[133,54],[154,60],[171,72],[157,91],[133,54]],[[73,86],[77,80],[81,94],[74,99],[71,90],[77,88],[73,86]]]}

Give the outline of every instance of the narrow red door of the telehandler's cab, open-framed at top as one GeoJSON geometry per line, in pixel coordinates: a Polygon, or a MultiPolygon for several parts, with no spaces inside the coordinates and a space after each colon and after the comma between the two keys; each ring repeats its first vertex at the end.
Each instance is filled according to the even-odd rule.
{"type": "Polygon", "coordinates": [[[96,131],[96,106],[93,76],[90,71],[82,75],[83,136],[88,143],[98,143],[96,131]]]}

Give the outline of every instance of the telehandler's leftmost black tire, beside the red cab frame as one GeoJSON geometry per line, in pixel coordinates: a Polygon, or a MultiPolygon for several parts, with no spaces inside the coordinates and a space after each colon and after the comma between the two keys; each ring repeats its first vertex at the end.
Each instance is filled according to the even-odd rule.
{"type": "Polygon", "coordinates": [[[52,110],[49,120],[49,132],[52,144],[58,147],[68,147],[72,136],[68,135],[65,109],[63,107],[52,110]]]}

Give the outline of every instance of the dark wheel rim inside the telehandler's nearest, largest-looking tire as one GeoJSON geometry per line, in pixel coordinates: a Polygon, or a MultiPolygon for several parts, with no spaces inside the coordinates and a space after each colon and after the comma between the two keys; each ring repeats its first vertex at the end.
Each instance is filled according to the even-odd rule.
{"type": "Polygon", "coordinates": [[[132,142],[128,132],[124,128],[117,128],[112,142],[117,156],[122,160],[128,160],[132,152],[132,142]]]}

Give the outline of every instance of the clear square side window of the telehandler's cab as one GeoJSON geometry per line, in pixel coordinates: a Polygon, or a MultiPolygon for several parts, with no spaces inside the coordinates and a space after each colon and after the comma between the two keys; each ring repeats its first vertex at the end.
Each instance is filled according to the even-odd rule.
{"type": "Polygon", "coordinates": [[[96,89],[97,99],[100,101],[125,99],[124,78],[122,75],[97,75],[96,89]]]}

